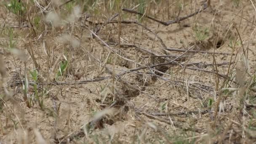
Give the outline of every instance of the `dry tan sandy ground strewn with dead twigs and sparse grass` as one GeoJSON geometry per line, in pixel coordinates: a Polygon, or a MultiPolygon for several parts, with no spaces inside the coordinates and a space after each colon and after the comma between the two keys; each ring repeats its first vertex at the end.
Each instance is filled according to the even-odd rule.
{"type": "MultiPolygon", "coordinates": [[[[173,3],[172,0],[169,1],[173,3]]],[[[256,128],[256,101],[255,93],[251,89],[246,90],[244,111],[237,110],[240,113],[234,112],[239,93],[232,90],[221,93],[219,106],[224,111],[215,117],[224,81],[230,80],[223,88],[239,88],[235,84],[237,69],[242,69],[242,72],[247,69],[246,77],[242,78],[244,81],[250,80],[254,75],[255,10],[249,0],[241,2],[238,6],[235,6],[234,1],[211,0],[212,8],[206,8],[203,12],[180,21],[179,24],[163,26],[147,18],[142,21],[145,27],[157,33],[167,48],[187,50],[194,45],[191,50],[208,53],[166,51],[160,39],[147,29],[137,24],[119,26],[118,23],[107,24],[99,32],[99,37],[110,46],[109,49],[98,38],[91,37],[90,30],[95,26],[88,22],[105,22],[114,15],[109,13],[107,18],[102,13],[97,14],[95,18],[88,18],[88,21],[85,21],[83,15],[74,24],[54,29],[42,24],[44,21],[41,20],[41,28],[35,28],[36,36],[31,27],[13,29],[16,48],[23,50],[28,56],[28,71],[35,69],[35,63],[27,49],[34,50],[35,60],[40,66],[38,90],[43,93],[40,95],[43,108],[40,108],[37,102],[28,108],[23,99],[21,82],[24,80],[24,62],[8,53],[10,37],[5,29],[19,27],[19,20],[17,16],[1,7],[1,15],[5,19],[0,19],[0,24],[1,27],[5,26],[2,28],[5,30],[2,30],[0,49],[5,51],[4,62],[7,71],[3,85],[6,85],[9,91],[15,90],[12,98],[17,103],[7,100],[1,88],[3,95],[0,99],[0,141],[3,144],[35,143],[38,138],[35,131],[39,130],[43,139],[51,144],[183,144],[220,141],[233,144],[244,141],[253,143],[256,141],[253,134],[256,128]],[[195,28],[207,29],[207,37],[198,41],[195,28]],[[69,39],[79,41],[79,46],[74,48],[71,42],[59,42],[59,37],[64,33],[71,34],[72,38],[69,39]],[[232,42],[235,37],[237,45],[234,48],[235,55],[232,56],[231,45],[234,44],[232,42]],[[242,46],[247,57],[245,59],[242,46]],[[213,55],[214,51],[221,54],[213,55]],[[176,63],[148,68],[153,64],[172,61],[182,53],[184,56],[176,59],[176,63]],[[157,55],[174,57],[160,58],[156,57],[157,55]],[[213,65],[213,56],[218,72],[213,65]],[[69,67],[61,80],[56,78],[56,73],[60,61],[65,59],[68,59],[69,67]],[[232,64],[227,74],[230,59],[232,64]],[[52,69],[55,63],[57,67],[52,69]],[[127,72],[142,66],[146,68],[127,72]],[[127,73],[119,75],[124,71],[127,73]],[[116,75],[115,80],[113,74],[116,75]],[[107,78],[86,82],[101,77],[107,78]],[[16,84],[12,85],[13,83],[16,84]],[[211,100],[213,104],[209,107],[211,100]],[[103,117],[95,120],[97,114],[102,114],[103,117]]],[[[201,8],[200,3],[184,3],[186,5],[182,7],[179,16],[187,16],[201,8]]],[[[149,15],[162,21],[176,19],[177,5],[172,5],[172,9],[169,9],[169,18],[165,12],[166,8],[161,9],[163,5],[164,2],[160,3],[155,8],[155,14],[152,10],[149,15]]],[[[117,19],[118,17],[113,21],[117,19]]],[[[121,20],[136,21],[137,18],[134,14],[122,12],[121,20]]],[[[29,25],[28,21],[24,21],[23,25],[26,24],[29,25]]],[[[32,81],[29,72],[27,74],[29,81],[32,81]]],[[[35,95],[33,84],[29,85],[28,93],[32,98],[35,95]]]]}

